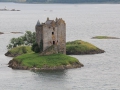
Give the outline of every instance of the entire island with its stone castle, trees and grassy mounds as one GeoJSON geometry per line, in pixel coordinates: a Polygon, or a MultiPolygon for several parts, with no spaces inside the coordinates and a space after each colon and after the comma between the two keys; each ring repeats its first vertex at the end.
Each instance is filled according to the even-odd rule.
{"type": "Polygon", "coordinates": [[[12,43],[9,46],[13,48],[5,54],[6,56],[14,57],[9,61],[9,67],[22,70],[64,70],[80,68],[84,65],[76,58],[68,55],[105,52],[82,40],[66,43],[66,24],[62,18],[56,18],[55,21],[47,18],[45,23],[38,21],[35,29],[36,34],[27,31],[24,36],[11,40],[12,43]],[[31,40],[32,43],[30,43],[31,40]],[[33,41],[35,42],[33,43],[33,41]],[[28,42],[28,45],[32,44],[32,47],[28,45],[24,46],[23,42],[28,42]]]}

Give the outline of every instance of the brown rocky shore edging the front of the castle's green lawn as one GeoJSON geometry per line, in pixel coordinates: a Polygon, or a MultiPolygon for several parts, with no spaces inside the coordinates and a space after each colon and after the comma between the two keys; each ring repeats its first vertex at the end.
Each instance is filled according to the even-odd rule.
{"type": "Polygon", "coordinates": [[[10,60],[8,63],[8,67],[11,67],[12,69],[18,69],[18,70],[32,70],[32,71],[41,71],[41,70],[65,70],[65,69],[72,69],[72,68],[81,68],[84,65],[81,63],[73,63],[69,65],[60,65],[60,66],[54,66],[54,67],[49,67],[47,65],[44,65],[41,68],[37,67],[32,67],[29,68],[27,66],[22,66],[18,61],[16,60],[10,60]]]}

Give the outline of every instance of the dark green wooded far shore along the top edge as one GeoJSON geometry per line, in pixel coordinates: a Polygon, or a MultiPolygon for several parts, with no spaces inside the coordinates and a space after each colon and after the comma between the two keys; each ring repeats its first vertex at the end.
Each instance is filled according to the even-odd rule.
{"type": "Polygon", "coordinates": [[[28,3],[120,3],[120,0],[0,0],[1,2],[28,3]]]}

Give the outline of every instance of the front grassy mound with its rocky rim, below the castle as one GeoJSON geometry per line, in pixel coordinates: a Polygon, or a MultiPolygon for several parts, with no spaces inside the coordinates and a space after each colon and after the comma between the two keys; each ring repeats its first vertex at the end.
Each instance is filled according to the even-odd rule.
{"type": "Polygon", "coordinates": [[[17,56],[8,65],[19,70],[64,70],[84,66],[76,58],[64,54],[40,56],[36,53],[17,56]]]}

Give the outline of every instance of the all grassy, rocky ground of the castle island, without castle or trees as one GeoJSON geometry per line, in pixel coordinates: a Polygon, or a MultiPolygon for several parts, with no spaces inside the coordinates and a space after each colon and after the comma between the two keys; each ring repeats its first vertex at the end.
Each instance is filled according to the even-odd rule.
{"type": "Polygon", "coordinates": [[[31,47],[20,46],[9,50],[5,55],[14,57],[8,65],[12,69],[21,70],[64,70],[71,68],[81,68],[84,65],[78,59],[68,55],[98,54],[104,50],[96,46],[76,40],[66,43],[66,54],[56,54],[54,47],[40,53],[31,51],[31,47]]]}

